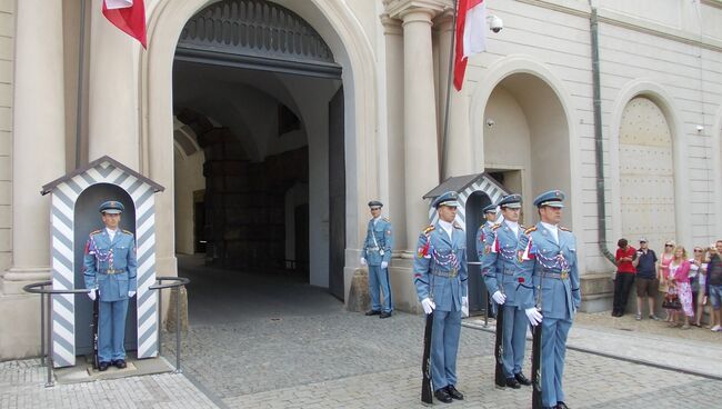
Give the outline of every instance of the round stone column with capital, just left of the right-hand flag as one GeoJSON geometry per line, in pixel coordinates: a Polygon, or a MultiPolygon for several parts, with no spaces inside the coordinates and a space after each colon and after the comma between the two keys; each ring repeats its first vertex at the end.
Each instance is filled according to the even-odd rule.
{"type": "Polygon", "coordinates": [[[403,20],[407,245],[412,251],[419,231],[429,223],[429,207],[422,197],[439,184],[437,104],[431,48],[431,18],[434,14],[434,10],[417,7],[405,9],[399,14],[403,20]]]}

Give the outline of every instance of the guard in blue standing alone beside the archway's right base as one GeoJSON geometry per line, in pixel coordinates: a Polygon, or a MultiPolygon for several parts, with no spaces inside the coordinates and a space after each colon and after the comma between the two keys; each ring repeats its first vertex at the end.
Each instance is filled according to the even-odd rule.
{"type": "Polygon", "coordinates": [[[371,293],[371,310],[367,316],[391,317],[393,302],[391,297],[391,282],[389,281],[389,261],[393,247],[393,231],[389,218],[381,217],[383,203],[378,200],[369,202],[371,220],[367,228],[367,238],[361,250],[361,265],[369,265],[369,292],[371,293]],[[379,288],[383,291],[383,307],[379,288]]]}

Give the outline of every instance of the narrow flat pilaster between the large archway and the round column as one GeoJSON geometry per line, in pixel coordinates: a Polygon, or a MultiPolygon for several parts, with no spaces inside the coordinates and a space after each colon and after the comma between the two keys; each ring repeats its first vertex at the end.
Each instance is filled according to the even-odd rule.
{"type": "MultiPolygon", "coordinates": [[[[381,123],[385,123],[387,152],[384,162],[387,169],[381,169],[380,174],[387,178],[387,189],[382,182],[381,197],[388,194],[389,216],[395,231],[395,248],[405,250],[407,220],[405,220],[405,183],[404,178],[404,138],[403,138],[403,29],[401,20],[389,14],[381,16],[383,24],[383,39],[385,46],[385,113],[381,123]]],[[[415,229],[415,227],[414,227],[415,229]]],[[[412,230],[414,230],[412,229],[412,230]]],[[[413,232],[413,231],[412,231],[413,232]]],[[[413,246],[411,243],[410,246],[413,246]]]]}

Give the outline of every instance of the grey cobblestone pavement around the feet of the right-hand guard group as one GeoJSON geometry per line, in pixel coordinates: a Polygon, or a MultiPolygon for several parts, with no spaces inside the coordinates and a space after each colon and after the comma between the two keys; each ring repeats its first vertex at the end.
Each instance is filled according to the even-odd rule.
{"type": "MultiPolygon", "coordinates": [[[[228,408],[417,408],[422,325],[405,313],[379,320],[338,312],[195,327],[183,362],[228,408]]],[[[467,400],[451,407],[530,407],[529,388],[493,387],[492,348],[492,333],[462,329],[458,387],[467,400]]],[[[722,381],[576,351],[568,352],[564,380],[573,408],[710,408],[722,388],[722,381]]]]}

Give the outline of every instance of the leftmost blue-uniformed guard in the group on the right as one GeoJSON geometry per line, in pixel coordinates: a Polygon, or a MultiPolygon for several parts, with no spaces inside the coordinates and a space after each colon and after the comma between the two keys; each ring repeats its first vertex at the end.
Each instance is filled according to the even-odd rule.
{"type": "Polygon", "coordinates": [[[432,206],[439,221],[419,237],[413,277],[423,311],[433,312],[431,335],[431,380],[434,396],[442,402],[463,399],[457,390],[457,351],[461,315],[469,311],[467,296],[467,235],[454,221],[457,192],[445,192],[432,206]]]}

